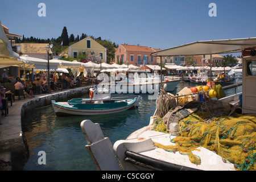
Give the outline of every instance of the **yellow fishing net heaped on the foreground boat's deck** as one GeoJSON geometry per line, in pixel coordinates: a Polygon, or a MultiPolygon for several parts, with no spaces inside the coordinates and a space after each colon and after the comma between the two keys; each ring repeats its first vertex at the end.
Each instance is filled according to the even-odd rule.
{"type": "MultiPolygon", "coordinates": [[[[195,164],[200,164],[201,160],[192,151],[201,146],[215,151],[223,162],[228,160],[238,170],[256,170],[256,117],[236,114],[234,117],[205,118],[209,118],[207,112],[190,114],[179,121],[180,137],[170,140],[175,143],[174,146],[155,145],[188,155],[195,164]]],[[[153,130],[167,133],[161,118],[156,121],[153,130]]]]}

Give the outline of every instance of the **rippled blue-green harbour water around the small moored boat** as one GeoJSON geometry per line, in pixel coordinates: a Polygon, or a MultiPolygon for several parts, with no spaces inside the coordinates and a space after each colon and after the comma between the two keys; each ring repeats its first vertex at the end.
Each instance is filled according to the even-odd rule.
{"type": "MultiPolygon", "coordinates": [[[[180,82],[175,92],[185,86],[197,86],[190,82],[180,82]]],[[[241,86],[237,92],[241,92],[241,86]]],[[[175,93],[174,92],[174,93],[175,93]]],[[[225,90],[226,95],[234,93],[234,89],[225,90]]],[[[135,94],[123,94],[116,97],[135,94]]],[[[89,97],[89,96],[84,96],[89,97]]],[[[115,97],[115,96],[113,96],[115,97]]],[[[126,139],[129,134],[141,127],[147,126],[151,115],[155,111],[155,100],[148,100],[147,94],[142,94],[142,100],[137,110],[127,110],[122,113],[92,116],[92,117],[56,117],[52,106],[34,109],[27,113],[22,121],[23,134],[26,137],[29,158],[22,164],[24,171],[94,171],[96,168],[85,149],[86,140],[82,134],[80,123],[90,119],[94,123],[100,123],[105,137],[112,144],[120,139],[126,139]],[[46,164],[39,164],[39,151],[46,152],[46,164]]]]}

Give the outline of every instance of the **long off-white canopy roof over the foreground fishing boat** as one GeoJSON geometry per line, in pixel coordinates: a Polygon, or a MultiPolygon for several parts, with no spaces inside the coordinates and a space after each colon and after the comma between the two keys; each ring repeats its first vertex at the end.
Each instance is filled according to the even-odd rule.
{"type": "Polygon", "coordinates": [[[183,46],[152,52],[150,56],[193,56],[241,52],[256,47],[256,38],[197,41],[183,46]]]}

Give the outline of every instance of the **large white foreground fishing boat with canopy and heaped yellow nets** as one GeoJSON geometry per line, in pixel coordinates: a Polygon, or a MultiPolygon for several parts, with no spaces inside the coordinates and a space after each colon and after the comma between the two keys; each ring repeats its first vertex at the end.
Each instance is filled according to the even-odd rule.
{"type": "Polygon", "coordinates": [[[85,147],[96,168],[98,170],[254,170],[256,167],[256,93],[254,92],[256,56],[246,53],[248,50],[256,50],[256,38],[195,42],[157,51],[151,53],[151,56],[184,55],[184,53],[199,55],[220,53],[224,50],[226,53],[242,50],[242,97],[241,94],[238,96],[242,114],[236,114],[235,104],[230,103],[237,94],[219,101],[210,96],[212,90],[210,89],[207,92],[210,96],[207,101],[192,100],[177,105],[179,102],[176,102],[176,98],[179,100],[180,97],[184,99],[194,97],[197,92],[172,96],[163,90],[156,101],[156,111],[150,118],[148,126],[130,134],[125,140],[118,140],[113,146],[108,138],[104,138],[98,123],[92,123],[90,120],[81,122],[81,129],[88,142],[85,147]],[[205,44],[208,46],[204,52],[196,51],[200,47],[205,47],[205,44]],[[164,109],[160,109],[160,106],[164,109]],[[93,133],[97,133],[98,137],[96,138],[93,133]]]}

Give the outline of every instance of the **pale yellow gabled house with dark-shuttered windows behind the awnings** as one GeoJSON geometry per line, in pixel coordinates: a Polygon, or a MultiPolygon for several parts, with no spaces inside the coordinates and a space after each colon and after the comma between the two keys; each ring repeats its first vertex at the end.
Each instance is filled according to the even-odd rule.
{"type": "Polygon", "coordinates": [[[101,62],[105,62],[107,60],[106,52],[107,49],[101,44],[97,43],[95,40],[90,38],[89,36],[80,40],[79,42],[73,44],[68,47],[68,55],[69,57],[76,58],[81,53],[89,53],[91,55],[96,55],[101,62]]]}

